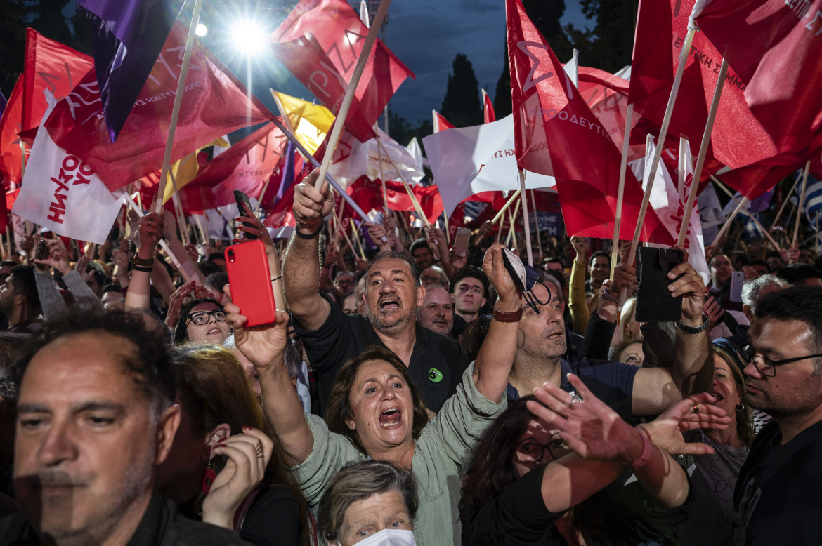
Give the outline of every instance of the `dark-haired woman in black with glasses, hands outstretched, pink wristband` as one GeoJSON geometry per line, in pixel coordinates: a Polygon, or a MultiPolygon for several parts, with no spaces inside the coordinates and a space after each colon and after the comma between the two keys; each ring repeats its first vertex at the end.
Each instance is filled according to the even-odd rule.
{"type": "Polygon", "coordinates": [[[686,521],[689,480],[667,450],[709,451],[679,433],[727,426],[709,395],[634,428],[570,381],[581,397],[547,383],[539,399],[510,401],[480,440],[463,483],[463,544],[640,544],[686,521]]]}

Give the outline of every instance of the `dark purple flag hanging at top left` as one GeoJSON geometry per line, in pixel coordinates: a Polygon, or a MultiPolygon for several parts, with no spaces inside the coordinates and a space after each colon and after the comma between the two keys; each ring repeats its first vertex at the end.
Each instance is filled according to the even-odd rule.
{"type": "Polygon", "coordinates": [[[95,72],[112,142],[117,140],[185,2],[78,0],[91,16],[95,72]]]}

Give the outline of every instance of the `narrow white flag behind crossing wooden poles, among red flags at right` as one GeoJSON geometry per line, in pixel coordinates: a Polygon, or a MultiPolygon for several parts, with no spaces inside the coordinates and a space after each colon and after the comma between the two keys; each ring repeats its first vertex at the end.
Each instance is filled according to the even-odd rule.
{"type": "MultiPolygon", "coordinates": [[[[637,179],[644,181],[644,187],[648,186],[648,176],[650,170],[651,159],[656,152],[656,146],[653,142],[649,142],[645,149],[645,158],[637,159],[630,162],[631,170],[636,175],[637,179]],[[642,177],[642,178],[640,178],[642,177]]],[[[690,157],[686,161],[686,195],[689,186],[694,180],[694,174],[690,167],[690,157]]],[[[682,203],[677,190],[677,185],[671,179],[667,172],[665,163],[660,161],[657,167],[656,177],[653,179],[653,188],[651,188],[651,197],[649,205],[657,213],[657,216],[662,221],[663,225],[667,227],[668,232],[676,241],[679,238],[679,227],[682,223],[682,218],[685,215],[685,204],[682,203]]],[[[688,223],[688,232],[685,239],[685,248],[688,253],[688,263],[693,267],[696,273],[705,284],[708,284],[710,279],[710,268],[705,261],[705,243],[702,236],[702,223],[700,222],[700,210],[697,204],[694,204],[694,209],[690,213],[690,222],[688,223]]]]}

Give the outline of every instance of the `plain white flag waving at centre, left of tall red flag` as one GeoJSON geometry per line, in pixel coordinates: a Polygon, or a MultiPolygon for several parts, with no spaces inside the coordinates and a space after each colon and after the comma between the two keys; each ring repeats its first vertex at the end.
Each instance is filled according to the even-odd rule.
{"type": "MultiPolygon", "coordinates": [[[[519,190],[514,116],[473,127],[446,129],[423,139],[442,206],[450,216],[460,201],[481,191],[519,190]]],[[[529,190],[556,186],[554,177],[525,172],[529,190]]]]}

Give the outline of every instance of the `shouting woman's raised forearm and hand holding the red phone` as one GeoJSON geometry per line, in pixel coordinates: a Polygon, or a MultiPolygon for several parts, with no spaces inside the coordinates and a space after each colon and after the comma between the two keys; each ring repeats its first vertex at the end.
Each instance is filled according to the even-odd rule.
{"type": "MultiPolygon", "coordinates": [[[[228,289],[226,294],[231,296],[228,289]]],[[[314,447],[314,436],[302,415],[302,402],[285,369],[285,344],[289,342],[289,314],[277,311],[277,322],[268,326],[245,328],[246,317],[233,303],[225,305],[226,322],[234,330],[237,348],[260,376],[262,407],[271,428],[283,443],[286,464],[305,461],[314,447]]]]}

